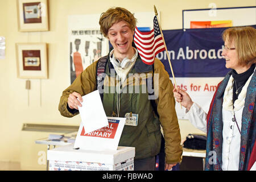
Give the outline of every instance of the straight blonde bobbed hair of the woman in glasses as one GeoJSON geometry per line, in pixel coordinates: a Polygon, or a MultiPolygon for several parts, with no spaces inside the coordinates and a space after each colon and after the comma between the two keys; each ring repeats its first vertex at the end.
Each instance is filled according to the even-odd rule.
{"type": "Polygon", "coordinates": [[[232,27],[222,34],[224,42],[232,43],[237,51],[238,64],[250,65],[256,62],[256,30],[253,27],[232,27]]]}

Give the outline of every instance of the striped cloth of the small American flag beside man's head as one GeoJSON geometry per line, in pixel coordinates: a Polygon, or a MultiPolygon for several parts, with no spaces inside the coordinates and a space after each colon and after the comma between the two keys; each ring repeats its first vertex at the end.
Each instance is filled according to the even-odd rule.
{"type": "Polygon", "coordinates": [[[137,27],[135,28],[134,43],[145,64],[153,64],[155,56],[165,50],[156,16],[154,17],[153,30],[141,32],[137,27]]]}

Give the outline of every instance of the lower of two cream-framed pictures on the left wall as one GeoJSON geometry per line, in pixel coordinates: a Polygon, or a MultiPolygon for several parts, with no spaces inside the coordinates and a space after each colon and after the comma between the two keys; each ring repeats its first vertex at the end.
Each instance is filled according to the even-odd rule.
{"type": "Polygon", "coordinates": [[[16,43],[16,65],[19,78],[48,78],[47,44],[16,43]]]}

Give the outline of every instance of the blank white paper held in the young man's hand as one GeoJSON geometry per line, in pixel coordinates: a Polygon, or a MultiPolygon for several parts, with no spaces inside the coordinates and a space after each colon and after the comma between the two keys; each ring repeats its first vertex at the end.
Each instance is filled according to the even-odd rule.
{"type": "Polygon", "coordinates": [[[85,133],[109,125],[98,90],[82,96],[81,104],[78,108],[85,133]]]}

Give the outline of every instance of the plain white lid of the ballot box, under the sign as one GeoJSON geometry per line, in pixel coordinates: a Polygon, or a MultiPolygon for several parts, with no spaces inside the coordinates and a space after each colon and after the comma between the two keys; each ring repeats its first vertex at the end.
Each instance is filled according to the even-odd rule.
{"type": "Polygon", "coordinates": [[[104,151],[76,150],[73,148],[73,144],[69,144],[48,150],[47,160],[117,164],[135,156],[135,147],[118,146],[117,150],[104,151]]]}

